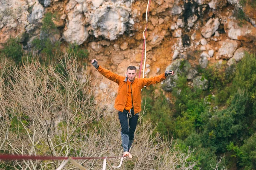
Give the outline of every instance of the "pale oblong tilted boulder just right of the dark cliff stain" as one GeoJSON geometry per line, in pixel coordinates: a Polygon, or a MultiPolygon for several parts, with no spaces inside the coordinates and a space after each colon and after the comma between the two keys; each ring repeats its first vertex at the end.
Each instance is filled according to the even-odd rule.
{"type": "Polygon", "coordinates": [[[211,37],[212,34],[214,34],[215,31],[217,31],[219,25],[220,25],[220,22],[218,21],[218,18],[209,19],[201,30],[202,36],[204,36],[205,38],[211,37]]]}

